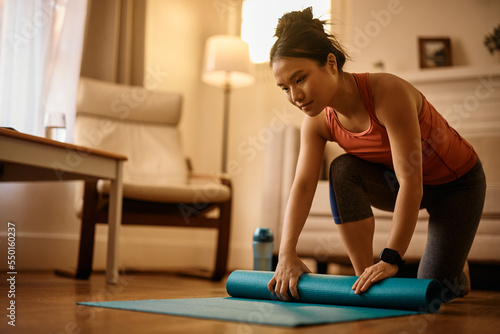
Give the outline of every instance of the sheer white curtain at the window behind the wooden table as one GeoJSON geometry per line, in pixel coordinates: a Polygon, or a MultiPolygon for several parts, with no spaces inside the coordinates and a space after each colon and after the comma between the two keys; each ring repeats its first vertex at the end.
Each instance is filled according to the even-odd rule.
{"type": "Polygon", "coordinates": [[[71,133],[86,13],[87,0],[0,0],[0,126],[43,136],[57,112],[71,133]]]}

